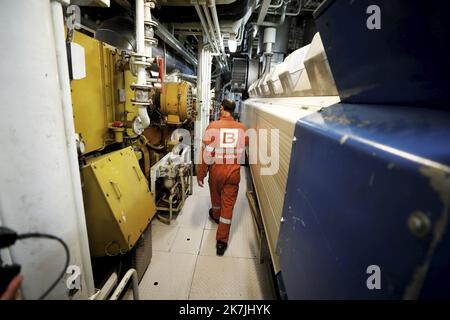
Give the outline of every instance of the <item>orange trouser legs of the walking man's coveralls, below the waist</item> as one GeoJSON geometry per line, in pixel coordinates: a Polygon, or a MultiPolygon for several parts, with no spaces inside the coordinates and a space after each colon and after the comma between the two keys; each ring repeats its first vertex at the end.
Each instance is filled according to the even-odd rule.
{"type": "Polygon", "coordinates": [[[212,214],[214,218],[219,219],[216,234],[218,241],[228,242],[240,179],[238,164],[213,164],[209,167],[212,214]]]}

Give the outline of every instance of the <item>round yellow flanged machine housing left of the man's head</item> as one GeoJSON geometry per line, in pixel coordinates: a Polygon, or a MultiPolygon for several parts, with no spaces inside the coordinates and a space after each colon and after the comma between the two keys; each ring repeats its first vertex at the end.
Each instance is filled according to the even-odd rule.
{"type": "Polygon", "coordinates": [[[194,101],[189,82],[167,82],[161,93],[161,111],[168,124],[180,124],[193,117],[194,101]]]}

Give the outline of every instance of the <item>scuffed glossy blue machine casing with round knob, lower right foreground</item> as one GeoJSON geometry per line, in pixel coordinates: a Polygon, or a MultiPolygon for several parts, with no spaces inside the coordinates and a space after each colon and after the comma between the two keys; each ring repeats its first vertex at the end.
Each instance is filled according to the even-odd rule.
{"type": "Polygon", "coordinates": [[[450,297],[448,113],[336,104],[295,136],[278,241],[288,297],[450,297]],[[366,286],[370,265],[381,290],[366,286]]]}

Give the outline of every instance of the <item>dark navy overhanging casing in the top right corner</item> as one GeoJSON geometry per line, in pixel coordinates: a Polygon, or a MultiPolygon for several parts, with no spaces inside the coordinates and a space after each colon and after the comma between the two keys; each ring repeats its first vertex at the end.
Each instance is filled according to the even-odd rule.
{"type": "Polygon", "coordinates": [[[341,101],[448,110],[449,11],[447,0],[325,1],[316,24],[341,101]],[[381,28],[370,30],[374,5],[381,28]]]}

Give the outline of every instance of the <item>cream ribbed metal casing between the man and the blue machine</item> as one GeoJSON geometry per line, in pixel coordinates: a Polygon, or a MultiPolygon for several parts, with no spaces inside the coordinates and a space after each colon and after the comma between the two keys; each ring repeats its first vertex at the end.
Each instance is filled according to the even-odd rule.
{"type": "MultiPolygon", "coordinates": [[[[275,272],[280,270],[275,249],[280,230],[295,124],[298,119],[337,102],[339,102],[338,97],[271,98],[244,101],[242,119],[247,128],[279,130],[279,169],[277,173],[261,175],[259,163],[250,165],[275,272]]],[[[268,136],[270,137],[270,135],[268,136]]],[[[270,145],[270,138],[268,140],[270,145]]],[[[267,143],[267,139],[261,139],[259,143],[267,143]]]]}

